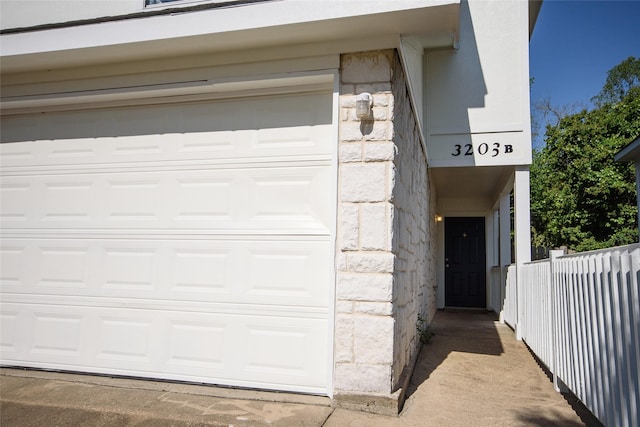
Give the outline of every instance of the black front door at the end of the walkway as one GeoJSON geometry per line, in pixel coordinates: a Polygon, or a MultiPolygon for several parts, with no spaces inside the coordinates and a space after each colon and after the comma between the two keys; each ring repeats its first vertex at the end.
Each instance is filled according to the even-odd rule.
{"type": "Polygon", "coordinates": [[[484,218],[445,218],[447,307],[486,307],[484,218]]]}

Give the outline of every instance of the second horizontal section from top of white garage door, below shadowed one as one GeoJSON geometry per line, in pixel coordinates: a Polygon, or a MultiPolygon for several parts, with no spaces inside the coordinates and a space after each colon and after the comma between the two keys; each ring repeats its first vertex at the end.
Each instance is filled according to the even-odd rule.
{"type": "Polygon", "coordinates": [[[7,176],[3,228],[315,230],[328,234],[326,166],[7,176]]]}

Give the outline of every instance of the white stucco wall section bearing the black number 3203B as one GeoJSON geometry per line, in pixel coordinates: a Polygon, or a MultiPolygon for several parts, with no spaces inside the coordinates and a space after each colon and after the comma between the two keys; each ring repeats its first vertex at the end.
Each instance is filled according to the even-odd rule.
{"type": "Polygon", "coordinates": [[[431,166],[530,163],[527,29],[527,2],[463,1],[457,49],[426,52],[431,166]]]}

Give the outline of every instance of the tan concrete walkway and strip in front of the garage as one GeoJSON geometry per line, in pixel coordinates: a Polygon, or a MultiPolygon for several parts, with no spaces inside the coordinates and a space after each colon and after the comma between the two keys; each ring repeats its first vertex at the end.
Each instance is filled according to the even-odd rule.
{"type": "Polygon", "coordinates": [[[0,425],[598,425],[553,390],[526,346],[495,315],[441,311],[430,330],[434,337],[422,348],[398,417],[334,409],[329,399],[314,396],[2,369],[0,425]]]}

